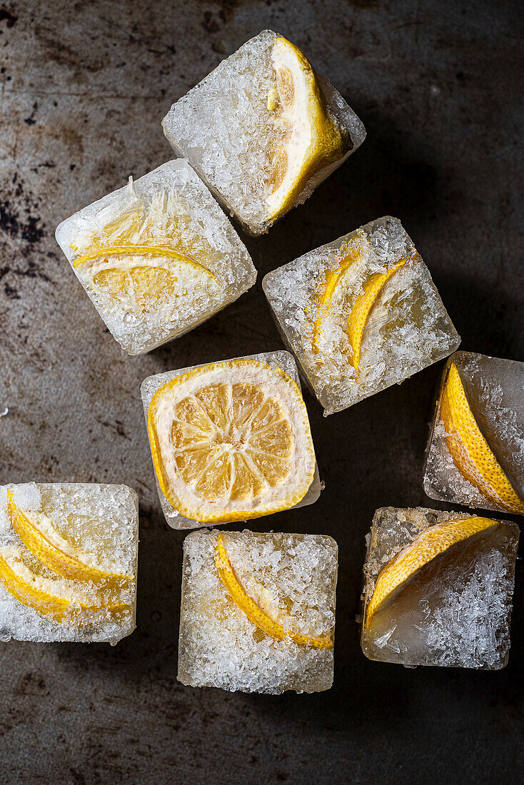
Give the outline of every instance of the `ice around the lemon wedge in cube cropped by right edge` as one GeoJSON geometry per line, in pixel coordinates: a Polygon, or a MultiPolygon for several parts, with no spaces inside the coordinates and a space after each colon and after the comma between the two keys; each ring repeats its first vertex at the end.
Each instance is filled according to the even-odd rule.
{"type": "Polygon", "coordinates": [[[455,352],[442,374],[427,451],[424,491],[430,498],[445,502],[507,512],[460,473],[449,452],[441,419],[441,397],[450,363],[455,363],[459,371],[481,433],[517,495],[524,498],[524,363],[474,352],[455,352]]]}

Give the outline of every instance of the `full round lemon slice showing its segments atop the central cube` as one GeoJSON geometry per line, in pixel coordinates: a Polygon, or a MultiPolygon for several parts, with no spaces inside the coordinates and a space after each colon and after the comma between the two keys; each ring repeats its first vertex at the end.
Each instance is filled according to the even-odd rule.
{"type": "Polygon", "coordinates": [[[225,360],[159,388],[148,408],[159,486],[181,515],[203,523],[298,504],[315,454],[299,388],[280,368],[225,360]]]}

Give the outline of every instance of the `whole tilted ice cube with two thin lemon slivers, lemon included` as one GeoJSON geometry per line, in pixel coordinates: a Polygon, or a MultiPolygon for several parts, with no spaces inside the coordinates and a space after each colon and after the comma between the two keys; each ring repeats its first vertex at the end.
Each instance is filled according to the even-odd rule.
{"type": "Polygon", "coordinates": [[[378,218],[290,261],[262,288],[324,416],[403,382],[460,344],[397,218],[378,218]]]}

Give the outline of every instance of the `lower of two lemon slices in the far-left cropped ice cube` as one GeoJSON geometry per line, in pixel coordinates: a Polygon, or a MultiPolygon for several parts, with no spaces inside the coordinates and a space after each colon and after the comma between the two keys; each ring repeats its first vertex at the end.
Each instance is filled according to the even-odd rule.
{"type": "MultiPolygon", "coordinates": [[[[16,560],[16,559],[15,559],[16,560]]],[[[0,582],[5,589],[23,605],[33,608],[43,616],[49,616],[56,622],[67,619],[68,623],[88,624],[89,613],[107,611],[114,619],[125,615],[130,611],[130,606],[123,603],[116,604],[83,604],[76,600],[58,597],[49,592],[38,589],[38,583],[42,584],[42,579],[37,579],[30,571],[27,571],[28,579],[22,575],[17,575],[13,569],[13,564],[9,564],[9,558],[5,553],[0,552],[0,582]]],[[[46,581],[46,584],[52,584],[46,581]]]]}

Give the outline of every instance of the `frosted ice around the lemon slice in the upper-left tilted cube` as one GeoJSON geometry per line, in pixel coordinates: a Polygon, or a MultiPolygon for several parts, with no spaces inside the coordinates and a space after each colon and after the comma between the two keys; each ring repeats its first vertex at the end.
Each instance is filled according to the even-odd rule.
{"type": "MultiPolygon", "coordinates": [[[[192,330],[214,313],[235,301],[256,280],[256,271],[244,243],[214,201],[211,193],[185,161],[168,161],[132,184],[119,188],[90,206],[79,210],[57,228],[57,243],[68,261],[78,251],[72,246],[88,245],[90,234],[101,232],[110,221],[125,217],[137,206],[145,210],[155,199],[163,199],[164,214],[153,227],[152,237],[140,242],[173,247],[165,226],[180,225],[174,250],[186,256],[206,253],[209,276],[189,279],[179,276],[178,287],[186,287],[181,298],[164,292],[162,301],[154,301],[141,312],[126,308],[103,291],[93,288],[90,265],[73,267],[93,305],[113,337],[129,354],[155,349],[172,338],[192,330]],[[167,213],[166,213],[167,210],[167,213]]],[[[134,257],[135,259],[137,257],[134,257]]]]}

